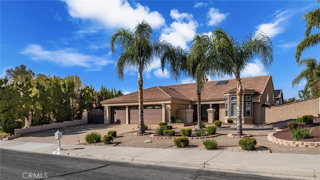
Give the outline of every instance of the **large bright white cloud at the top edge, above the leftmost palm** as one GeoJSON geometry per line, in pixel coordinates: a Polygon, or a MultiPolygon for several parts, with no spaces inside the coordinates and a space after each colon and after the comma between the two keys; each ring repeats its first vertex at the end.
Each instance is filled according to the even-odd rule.
{"type": "Polygon", "coordinates": [[[125,27],[133,29],[143,19],[153,28],[159,28],[165,19],[157,11],[147,6],[127,0],[65,0],[67,9],[73,18],[91,19],[107,28],[125,27]]]}

